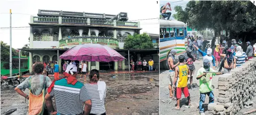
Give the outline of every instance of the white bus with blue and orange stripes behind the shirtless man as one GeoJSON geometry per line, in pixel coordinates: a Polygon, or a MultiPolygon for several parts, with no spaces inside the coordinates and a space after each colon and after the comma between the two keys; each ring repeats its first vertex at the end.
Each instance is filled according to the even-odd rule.
{"type": "Polygon", "coordinates": [[[160,69],[168,69],[167,55],[171,49],[177,54],[185,53],[187,48],[187,25],[182,21],[160,19],[160,69]]]}

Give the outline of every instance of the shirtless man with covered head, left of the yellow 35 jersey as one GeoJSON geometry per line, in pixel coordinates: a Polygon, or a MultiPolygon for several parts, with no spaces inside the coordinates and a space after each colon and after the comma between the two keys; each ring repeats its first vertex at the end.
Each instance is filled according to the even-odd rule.
{"type": "Polygon", "coordinates": [[[177,53],[176,49],[172,49],[167,57],[167,66],[169,67],[169,98],[174,98],[173,96],[173,81],[172,78],[174,78],[175,76],[175,67],[179,64],[179,62],[177,64],[175,64],[175,55],[177,53]]]}

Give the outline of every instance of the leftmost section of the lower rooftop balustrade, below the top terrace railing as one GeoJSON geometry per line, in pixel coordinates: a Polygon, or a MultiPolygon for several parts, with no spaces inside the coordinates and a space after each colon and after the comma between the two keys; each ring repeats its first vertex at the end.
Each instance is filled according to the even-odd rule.
{"type": "Polygon", "coordinates": [[[59,17],[34,17],[35,23],[59,23],[59,17]]]}

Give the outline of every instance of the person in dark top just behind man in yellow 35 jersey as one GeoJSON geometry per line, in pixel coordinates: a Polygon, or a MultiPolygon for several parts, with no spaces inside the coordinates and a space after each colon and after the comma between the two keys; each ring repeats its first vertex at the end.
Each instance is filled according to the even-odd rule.
{"type": "Polygon", "coordinates": [[[188,76],[188,79],[190,78],[190,89],[193,89],[192,81],[193,81],[193,75],[195,72],[195,65],[194,65],[195,57],[191,53],[192,53],[192,50],[190,48],[187,48],[186,53],[185,53],[185,63],[184,64],[187,64],[189,67],[191,74],[188,76]]]}

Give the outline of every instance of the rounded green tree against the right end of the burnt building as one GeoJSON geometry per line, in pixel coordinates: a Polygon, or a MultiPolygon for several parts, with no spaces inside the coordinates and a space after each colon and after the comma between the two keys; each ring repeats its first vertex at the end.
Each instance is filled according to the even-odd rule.
{"type": "Polygon", "coordinates": [[[152,39],[147,33],[128,35],[125,39],[125,49],[153,49],[152,39]]]}

